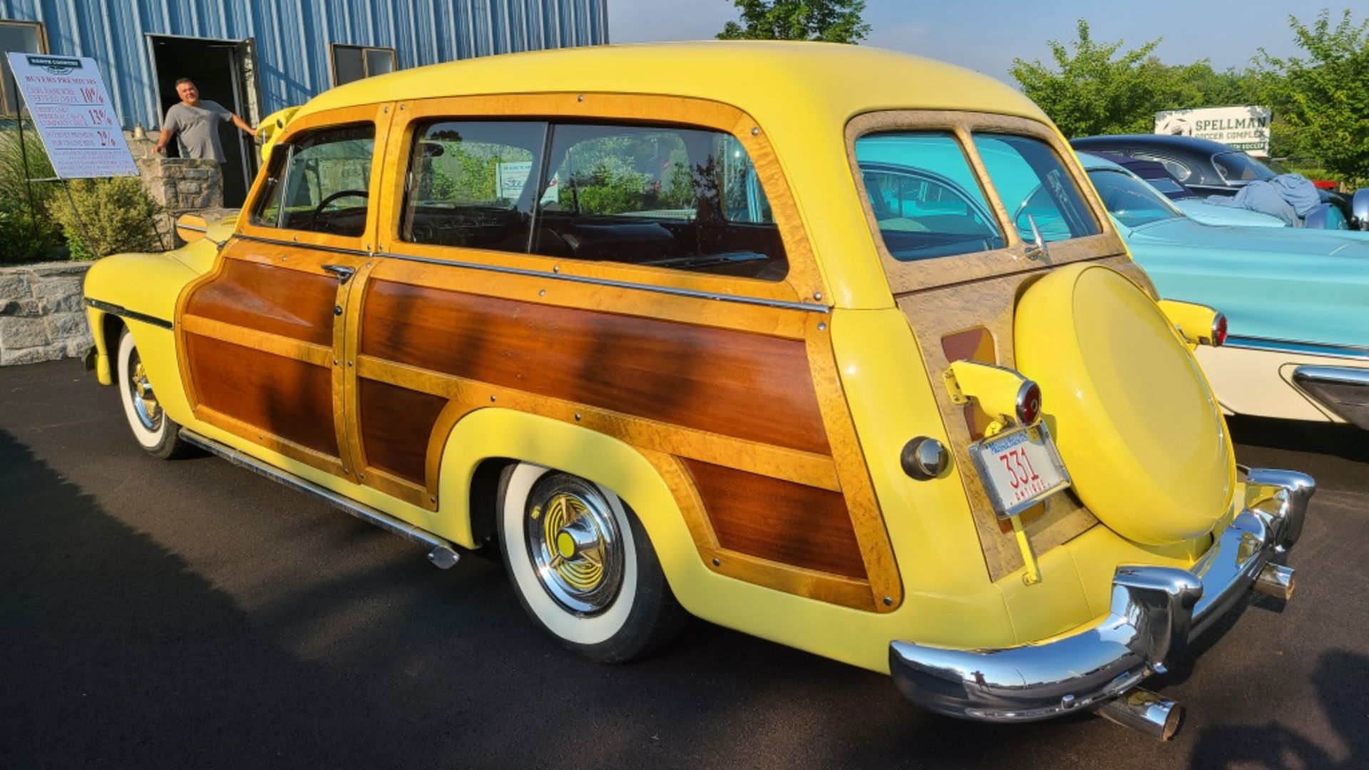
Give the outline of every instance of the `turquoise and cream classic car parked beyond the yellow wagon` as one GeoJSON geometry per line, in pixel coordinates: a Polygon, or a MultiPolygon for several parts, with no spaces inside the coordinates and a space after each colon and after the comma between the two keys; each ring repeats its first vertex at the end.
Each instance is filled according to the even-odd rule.
{"type": "Polygon", "coordinates": [[[1224,410],[1369,430],[1369,233],[1205,225],[1121,166],[1080,160],[1161,296],[1227,315],[1227,344],[1197,351],[1224,410]]]}

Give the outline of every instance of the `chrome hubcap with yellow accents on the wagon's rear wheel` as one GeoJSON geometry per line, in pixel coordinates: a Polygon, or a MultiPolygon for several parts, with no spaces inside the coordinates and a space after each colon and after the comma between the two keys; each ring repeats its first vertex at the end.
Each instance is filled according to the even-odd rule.
{"type": "Polygon", "coordinates": [[[538,581],[576,615],[602,612],[623,580],[623,543],[608,500],[590,485],[537,485],[524,532],[538,581]]]}

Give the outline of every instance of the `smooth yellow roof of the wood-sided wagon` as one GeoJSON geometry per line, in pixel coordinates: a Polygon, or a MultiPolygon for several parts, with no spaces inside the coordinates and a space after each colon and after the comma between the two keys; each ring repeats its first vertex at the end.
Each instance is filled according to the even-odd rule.
{"type": "Polygon", "coordinates": [[[969,110],[1045,119],[1008,85],[971,70],[831,42],[701,41],[561,48],[448,62],[327,90],[300,110],[439,96],[602,92],[712,99],[758,122],[873,110],[969,110]]]}

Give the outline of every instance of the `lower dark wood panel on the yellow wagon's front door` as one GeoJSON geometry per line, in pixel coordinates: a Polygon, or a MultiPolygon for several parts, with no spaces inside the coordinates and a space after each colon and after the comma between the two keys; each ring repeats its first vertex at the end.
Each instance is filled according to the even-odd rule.
{"type": "Polygon", "coordinates": [[[333,373],[242,345],[185,334],[200,404],[338,456],[333,429],[333,373]]]}

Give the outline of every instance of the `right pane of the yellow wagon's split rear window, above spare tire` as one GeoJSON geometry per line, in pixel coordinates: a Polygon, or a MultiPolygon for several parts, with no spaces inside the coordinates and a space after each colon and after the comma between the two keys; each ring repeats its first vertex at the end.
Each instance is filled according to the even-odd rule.
{"type": "Polygon", "coordinates": [[[1034,240],[1038,232],[1046,241],[1098,234],[1098,222],[1079,188],[1046,142],[976,133],[975,148],[1024,241],[1034,240]]]}

